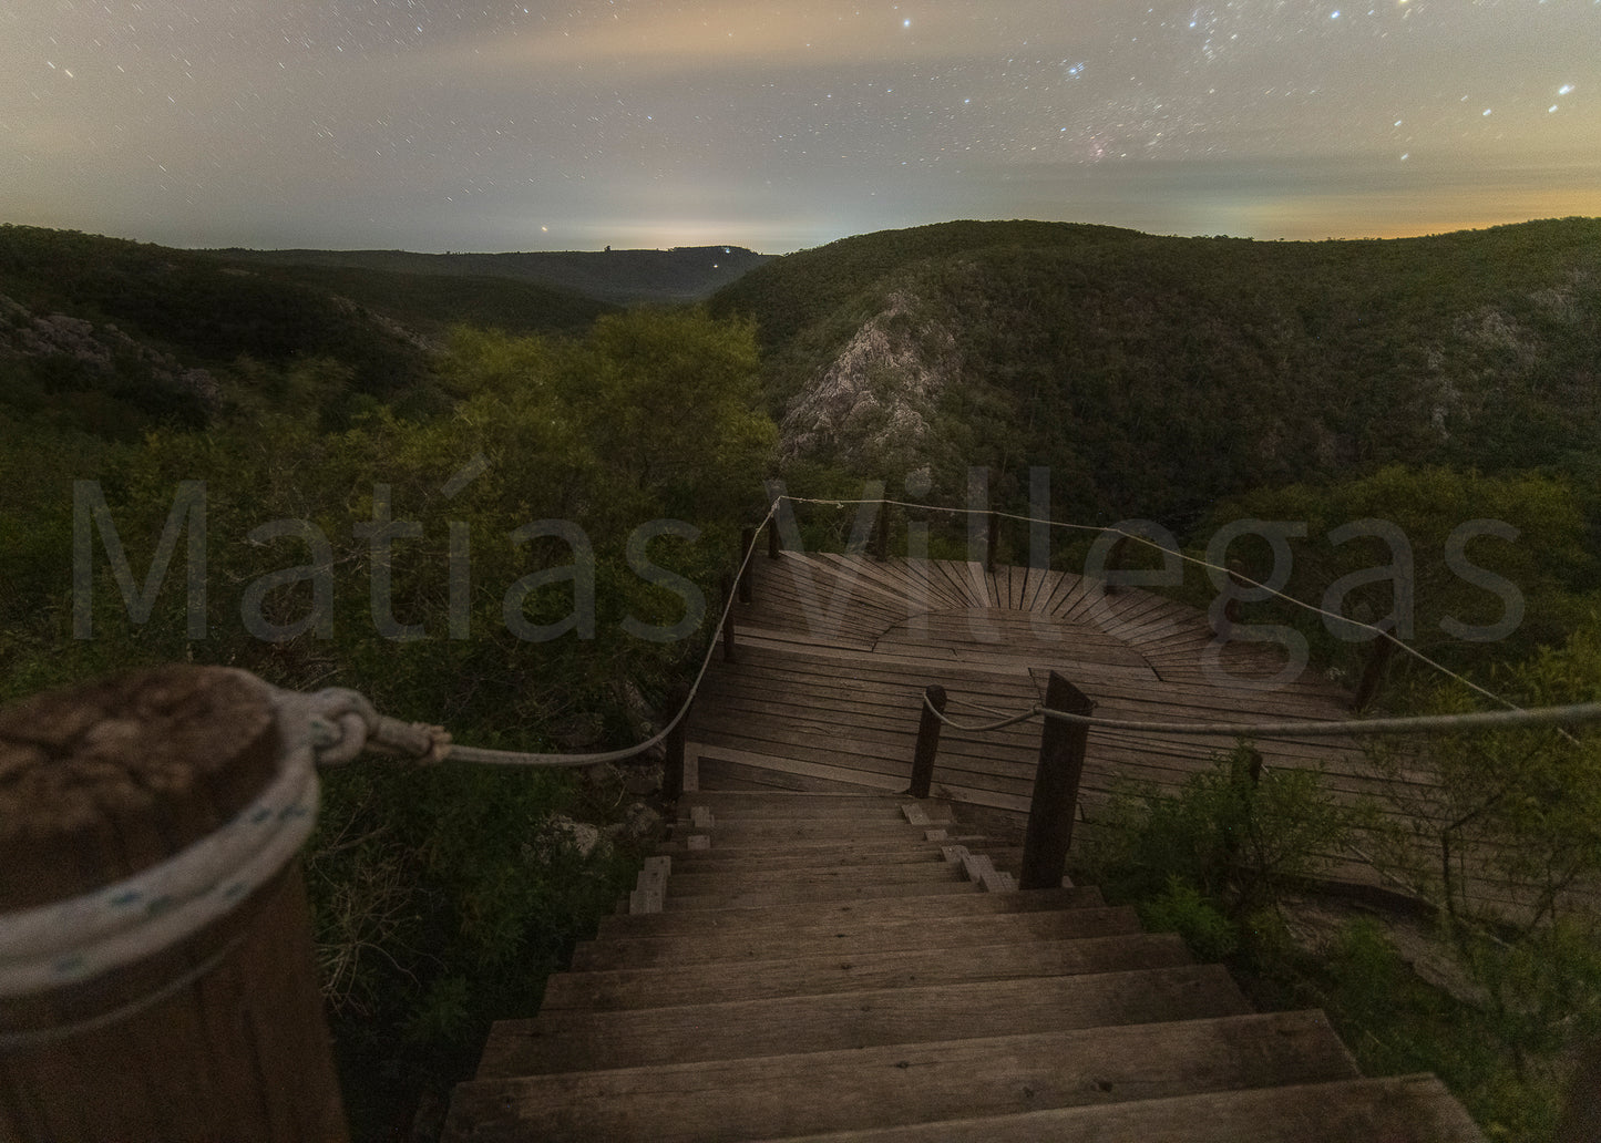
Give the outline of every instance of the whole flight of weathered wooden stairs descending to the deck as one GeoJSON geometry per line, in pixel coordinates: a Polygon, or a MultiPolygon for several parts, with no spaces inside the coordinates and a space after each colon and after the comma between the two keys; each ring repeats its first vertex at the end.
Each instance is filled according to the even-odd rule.
{"type": "MultiPolygon", "coordinates": [[[[631,911],[495,1025],[445,1138],[1452,1143],[1433,1076],[1364,1079],[1321,1012],[1095,888],[1010,888],[943,802],[700,791],[631,911]]],[[[1004,864],[1004,861],[1002,861],[1004,864]]]]}

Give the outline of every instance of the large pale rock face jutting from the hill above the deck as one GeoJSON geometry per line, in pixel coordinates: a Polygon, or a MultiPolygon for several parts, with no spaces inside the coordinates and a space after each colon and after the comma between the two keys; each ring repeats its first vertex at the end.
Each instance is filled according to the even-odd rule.
{"type": "Polygon", "coordinates": [[[893,291],[784,415],[786,458],[837,455],[849,463],[916,456],[935,402],[961,376],[956,338],[927,307],[893,291]]]}

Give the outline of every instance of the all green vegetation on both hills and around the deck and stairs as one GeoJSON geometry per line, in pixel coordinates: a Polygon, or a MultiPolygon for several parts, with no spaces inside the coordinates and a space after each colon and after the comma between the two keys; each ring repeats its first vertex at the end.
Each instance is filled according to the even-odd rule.
{"type": "MultiPolygon", "coordinates": [[[[636,259],[628,296],[708,287],[712,251],[636,259]]],[[[573,272],[626,277],[636,253],[653,251],[573,272]]],[[[615,746],[700,652],[696,592],[762,477],[956,504],[986,467],[989,503],[1026,511],[1037,467],[1057,520],[1150,520],[1518,703],[1601,700],[1598,221],[1330,243],[953,223],[765,261],[708,311],[549,291],[533,258],[202,256],[0,227],[0,698],[194,658],[352,685],[466,741],[615,746]],[[96,482],[126,549],[120,570],[88,535],[88,639],[74,480],[96,482]],[[203,634],[181,482],[203,482],[203,634]],[[692,527],[639,531],[663,519],[692,527]],[[1279,549],[1271,528],[1215,547],[1239,520],[1290,527],[1279,549]],[[171,567],[141,599],[163,530],[171,567]]],[[[809,543],[849,530],[800,515],[809,543]]],[[[1057,565],[1082,567],[1090,538],[1058,533],[1057,565]]],[[[1026,559],[1021,527],[1001,543],[1026,559]]],[[[957,523],[933,551],[964,544],[957,523]]],[[[1190,565],[1169,589],[1207,608],[1225,584],[1190,565]]],[[[1244,599],[1244,623],[1346,682],[1367,661],[1370,631],[1244,599]]],[[[1481,701],[1407,655],[1380,695],[1481,701]]],[[[1444,791],[1414,807],[1436,824],[1370,856],[1436,906],[1451,988],[1406,969],[1394,928],[1340,930],[1318,956],[1292,940],[1298,877],[1372,823],[1311,780],[1258,780],[1249,752],[1177,799],[1129,791],[1085,871],[1265,1001],[1326,1004],[1364,1066],[1436,1069],[1492,1137],[1548,1138],[1559,1052],[1601,1031],[1601,930],[1571,892],[1601,884],[1596,740],[1380,744],[1374,762],[1444,791]],[[1532,885],[1532,916],[1478,909],[1470,864],[1532,885]]],[[[629,876],[626,842],[589,852],[564,816],[604,824],[624,781],[330,776],[311,882],[363,1133],[536,1004],[629,876]]]]}

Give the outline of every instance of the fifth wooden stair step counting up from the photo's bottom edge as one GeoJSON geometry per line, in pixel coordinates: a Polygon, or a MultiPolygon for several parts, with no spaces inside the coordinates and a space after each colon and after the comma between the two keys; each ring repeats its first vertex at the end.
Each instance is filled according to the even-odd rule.
{"type": "MultiPolygon", "coordinates": [[[[996,901],[1021,893],[973,893],[972,896],[922,898],[924,911],[948,903],[996,901]]],[[[893,906],[905,901],[866,901],[858,906],[893,906]]],[[[800,908],[800,906],[797,906],[800,908]]],[[[658,912],[658,919],[714,922],[724,911],[658,912]]],[[[623,920],[626,917],[602,917],[623,920]]],[[[605,941],[581,941],[573,951],[575,972],[594,969],[658,969],[708,961],[770,961],[775,956],[823,956],[855,959],[865,952],[925,949],[940,956],[945,949],[994,944],[1001,941],[1076,940],[1081,936],[1117,936],[1140,932],[1140,916],[1132,908],[1044,909],[1039,912],[969,912],[945,919],[922,916],[889,920],[821,922],[765,933],[740,932],[720,935],[676,933],[671,936],[618,936],[605,941]]]]}

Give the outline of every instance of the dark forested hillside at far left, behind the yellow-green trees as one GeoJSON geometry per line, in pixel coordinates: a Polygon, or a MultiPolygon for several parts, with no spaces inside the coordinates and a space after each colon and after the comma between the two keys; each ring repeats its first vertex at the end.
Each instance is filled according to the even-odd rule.
{"type": "Polygon", "coordinates": [[[437,411],[445,403],[427,357],[453,323],[572,333],[613,309],[528,282],[247,269],[0,226],[0,408],[126,439],[163,423],[207,424],[227,375],[247,400],[277,403],[309,387],[328,424],[381,403],[437,411]]]}

